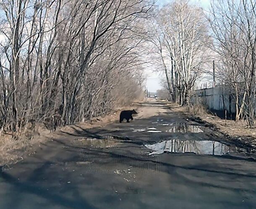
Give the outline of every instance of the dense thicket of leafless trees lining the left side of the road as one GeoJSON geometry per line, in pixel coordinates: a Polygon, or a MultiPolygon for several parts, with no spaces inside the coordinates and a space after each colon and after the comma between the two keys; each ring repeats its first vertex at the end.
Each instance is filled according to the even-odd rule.
{"type": "Polygon", "coordinates": [[[141,0],[3,0],[0,127],[68,125],[140,91],[141,0]]]}

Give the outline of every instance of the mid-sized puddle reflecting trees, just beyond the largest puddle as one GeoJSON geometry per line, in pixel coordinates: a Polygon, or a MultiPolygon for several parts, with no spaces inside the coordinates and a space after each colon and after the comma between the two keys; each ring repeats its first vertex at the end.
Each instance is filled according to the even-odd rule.
{"type": "MultiPolygon", "coordinates": [[[[167,126],[166,124],[162,124],[167,126]]],[[[199,125],[187,125],[183,123],[170,123],[171,128],[167,130],[169,133],[202,133],[204,132],[199,125]]]]}

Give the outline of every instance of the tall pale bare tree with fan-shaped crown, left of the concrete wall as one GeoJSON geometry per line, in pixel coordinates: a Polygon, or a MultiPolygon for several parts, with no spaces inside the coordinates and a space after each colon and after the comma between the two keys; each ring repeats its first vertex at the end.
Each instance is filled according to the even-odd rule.
{"type": "Polygon", "coordinates": [[[188,1],[175,1],[159,10],[157,38],[167,86],[174,101],[190,104],[191,89],[206,62],[209,41],[207,22],[201,8],[188,1]]]}

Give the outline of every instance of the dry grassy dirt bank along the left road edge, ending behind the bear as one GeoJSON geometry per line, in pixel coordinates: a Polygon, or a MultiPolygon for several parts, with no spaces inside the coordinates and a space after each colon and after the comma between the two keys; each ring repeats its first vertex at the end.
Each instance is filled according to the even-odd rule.
{"type": "MultiPolygon", "coordinates": [[[[34,153],[42,143],[46,143],[53,138],[63,137],[63,132],[72,134],[74,127],[89,129],[93,127],[102,127],[119,119],[122,110],[137,109],[135,105],[117,108],[108,115],[96,117],[85,122],[78,122],[74,125],[65,127],[57,127],[55,132],[51,132],[44,124],[34,123],[28,124],[24,130],[19,133],[1,133],[0,134],[0,166],[17,163],[23,160],[27,155],[34,153]]],[[[141,112],[138,114],[141,116],[141,112]]]]}

